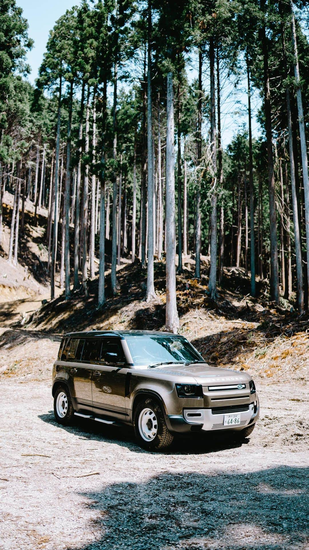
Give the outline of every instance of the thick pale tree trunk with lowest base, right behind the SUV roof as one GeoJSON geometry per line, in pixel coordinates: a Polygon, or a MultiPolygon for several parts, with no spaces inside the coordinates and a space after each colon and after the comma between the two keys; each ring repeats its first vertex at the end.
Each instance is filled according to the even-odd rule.
{"type": "Polygon", "coordinates": [[[176,303],[176,241],[175,241],[175,151],[174,151],[174,107],[173,75],[167,73],[166,104],[166,319],[167,332],[177,333],[179,318],[176,303]]]}

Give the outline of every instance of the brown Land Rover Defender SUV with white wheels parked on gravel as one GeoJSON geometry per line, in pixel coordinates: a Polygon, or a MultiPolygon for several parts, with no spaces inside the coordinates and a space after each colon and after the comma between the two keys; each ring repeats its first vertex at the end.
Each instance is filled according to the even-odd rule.
{"type": "Polygon", "coordinates": [[[148,450],[175,434],[234,431],[243,439],[259,418],[246,372],[210,367],[183,336],[152,331],[72,332],[53,366],[55,419],[74,416],[131,425],[148,450]]]}

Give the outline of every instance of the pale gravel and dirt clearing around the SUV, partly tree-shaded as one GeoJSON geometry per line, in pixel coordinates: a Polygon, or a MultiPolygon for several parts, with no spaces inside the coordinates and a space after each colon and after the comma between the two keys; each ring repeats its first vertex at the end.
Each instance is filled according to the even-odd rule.
{"type": "Polygon", "coordinates": [[[255,373],[261,417],[245,443],[205,434],[145,453],[128,428],[55,422],[59,340],[0,332],[1,550],[308,548],[303,368],[289,383],[255,373]]]}

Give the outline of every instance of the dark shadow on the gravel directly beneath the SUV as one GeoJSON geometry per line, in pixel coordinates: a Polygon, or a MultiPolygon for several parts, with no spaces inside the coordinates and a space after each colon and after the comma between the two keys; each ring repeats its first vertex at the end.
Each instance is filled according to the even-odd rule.
{"type": "MultiPolygon", "coordinates": [[[[86,420],[80,417],[75,417],[74,424],[71,426],[63,426],[59,424],[54,417],[54,412],[49,411],[46,414],[38,415],[43,422],[52,424],[59,428],[59,430],[65,430],[68,433],[75,435],[80,439],[89,439],[92,441],[100,442],[113,442],[120,447],[126,447],[132,450],[134,453],[146,453],[158,456],[159,453],[149,453],[139,447],[134,436],[133,427],[131,426],[108,426],[102,425],[99,422],[93,420],[86,420]]],[[[249,443],[249,439],[245,439],[243,442],[235,437],[235,434],[230,433],[199,433],[188,434],[187,436],[175,437],[175,441],[168,450],[163,454],[173,455],[188,455],[188,454],[212,454],[218,453],[225,449],[240,448],[241,445],[249,443]]]]}

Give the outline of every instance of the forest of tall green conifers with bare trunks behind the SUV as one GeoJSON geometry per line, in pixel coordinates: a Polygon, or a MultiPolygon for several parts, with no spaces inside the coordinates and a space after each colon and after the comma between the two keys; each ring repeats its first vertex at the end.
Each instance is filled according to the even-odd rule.
{"type": "Polygon", "coordinates": [[[176,268],[192,256],[199,279],[207,256],[212,299],[224,267],[236,266],[250,272],[252,296],[269,279],[274,303],[307,309],[308,22],[308,2],[290,0],[82,0],[50,30],[32,86],[27,21],[15,0],[2,0],[8,261],[18,262],[32,204],[34,224],[46,217],[52,298],[56,284],[68,300],[80,288],[87,295],[97,262],[102,307],[106,265],[116,294],[127,258],[147,269],[153,300],[154,261],[165,261],[166,330],[177,332],[176,268]],[[225,147],[223,88],[246,119],[225,147]]]}

